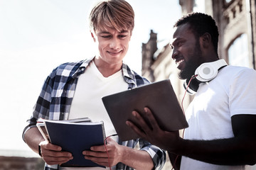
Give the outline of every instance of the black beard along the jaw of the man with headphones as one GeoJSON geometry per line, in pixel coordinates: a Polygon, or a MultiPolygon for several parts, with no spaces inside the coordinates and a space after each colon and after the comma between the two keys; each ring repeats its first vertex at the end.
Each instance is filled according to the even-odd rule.
{"type": "Polygon", "coordinates": [[[188,61],[186,62],[186,67],[178,73],[179,79],[191,79],[195,74],[197,67],[199,67],[199,60],[202,58],[202,52],[199,42],[196,42],[196,47],[193,50],[193,54],[188,56],[188,61]],[[198,60],[196,60],[198,59],[198,60]]]}

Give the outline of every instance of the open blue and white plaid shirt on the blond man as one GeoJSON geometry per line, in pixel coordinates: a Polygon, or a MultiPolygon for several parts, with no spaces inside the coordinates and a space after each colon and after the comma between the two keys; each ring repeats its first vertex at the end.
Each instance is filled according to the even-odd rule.
{"type": "MultiPolygon", "coordinates": [[[[38,118],[49,120],[68,119],[68,113],[75,94],[75,86],[78,83],[78,77],[85,72],[87,65],[92,59],[61,64],[56,69],[53,69],[53,72],[47,77],[43,84],[41,94],[34,106],[33,116],[28,120],[28,126],[23,130],[23,136],[28,129],[36,127],[36,120],[38,120],[38,118]]],[[[139,76],[136,72],[133,72],[126,64],[122,64],[122,74],[124,81],[128,84],[128,89],[142,86],[143,84],[149,84],[149,81],[139,76]]],[[[125,142],[119,140],[119,145],[134,148],[138,142],[140,149],[148,152],[151,156],[154,169],[161,169],[166,161],[166,153],[162,149],[159,149],[159,147],[140,139],[125,142]]],[[[45,169],[58,169],[58,165],[49,166],[46,164],[45,169]]],[[[131,167],[125,164],[117,164],[117,170],[122,169],[132,170],[131,167]]]]}

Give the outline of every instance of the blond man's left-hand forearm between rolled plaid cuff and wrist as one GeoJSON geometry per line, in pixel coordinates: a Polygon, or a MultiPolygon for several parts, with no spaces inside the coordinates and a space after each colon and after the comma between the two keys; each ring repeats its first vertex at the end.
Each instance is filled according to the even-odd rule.
{"type": "Polygon", "coordinates": [[[34,127],[26,131],[24,135],[24,140],[28,147],[30,147],[33,152],[38,153],[38,145],[40,142],[44,141],[41,132],[39,132],[38,128],[34,127]]]}

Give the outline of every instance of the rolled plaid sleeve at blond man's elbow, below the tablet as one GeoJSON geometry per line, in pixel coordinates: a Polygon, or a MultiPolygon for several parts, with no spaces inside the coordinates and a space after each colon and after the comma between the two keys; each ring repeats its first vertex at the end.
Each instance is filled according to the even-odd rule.
{"type": "Polygon", "coordinates": [[[162,169],[166,162],[166,152],[155,145],[151,145],[151,143],[147,142],[146,140],[139,140],[139,147],[140,150],[144,150],[149,153],[153,164],[154,169],[162,169]]]}

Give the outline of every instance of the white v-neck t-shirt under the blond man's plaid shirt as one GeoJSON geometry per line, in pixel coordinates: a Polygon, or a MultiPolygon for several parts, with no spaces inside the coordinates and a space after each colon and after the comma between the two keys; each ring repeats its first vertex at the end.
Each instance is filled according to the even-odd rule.
{"type": "MultiPolygon", "coordinates": [[[[103,77],[95,66],[94,62],[85,69],[85,73],[81,74],[75,89],[68,119],[73,118],[90,118],[93,122],[103,121],[106,137],[114,135],[117,132],[110,120],[105,106],[102,103],[102,97],[114,94],[119,91],[128,89],[128,84],[124,81],[122,70],[112,74],[110,77],[103,77]]],[[[117,141],[117,137],[112,137],[117,141]]],[[[82,167],[70,168],[65,167],[61,170],[100,170],[100,167],[82,167]]],[[[115,167],[112,167],[115,169],[115,167]]]]}

